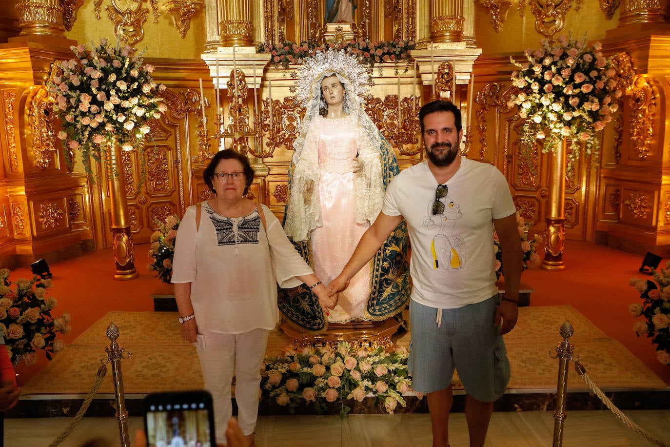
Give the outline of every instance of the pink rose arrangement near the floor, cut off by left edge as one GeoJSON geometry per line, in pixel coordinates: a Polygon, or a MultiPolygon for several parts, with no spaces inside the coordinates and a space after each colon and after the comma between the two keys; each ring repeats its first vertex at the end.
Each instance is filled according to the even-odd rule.
{"type": "Polygon", "coordinates": [[[47,296],[51,279],[34,276],[31,280],[9,281],[9,269],[0,269],[0,331],[5,337],[5,346],[16,366],[21,361],[33,365],[36,353],[43,350],[46,358],[65,346],[63,340],[56,340],[56,333],[69,334],[70,314],[52,317],[52,310],[58,302],[47,296]]]}

